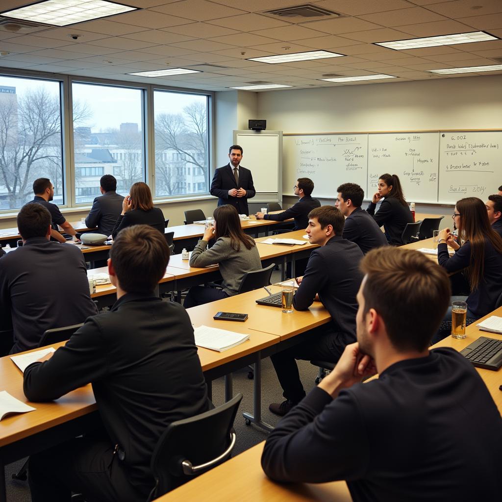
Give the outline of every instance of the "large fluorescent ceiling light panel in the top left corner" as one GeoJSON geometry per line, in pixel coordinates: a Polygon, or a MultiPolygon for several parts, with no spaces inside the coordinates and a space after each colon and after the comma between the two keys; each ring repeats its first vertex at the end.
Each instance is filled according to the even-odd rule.
{"type": "Polygon", "coordinates": [[[137,7],[105,2],[104,0],[46,0],[46,2],[28,5],[1,14],[8,18],[34,23],[67,26],[137,9],[137,7]]]}

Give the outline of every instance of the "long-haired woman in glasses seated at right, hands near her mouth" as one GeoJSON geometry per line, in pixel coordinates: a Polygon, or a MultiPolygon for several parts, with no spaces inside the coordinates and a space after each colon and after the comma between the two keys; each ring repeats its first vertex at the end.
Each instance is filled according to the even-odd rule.
{"type": "MultiPolygon", "coordinates": [[[[466,269],[470,285],[467,317],[479,319],[495,308],[502,292],[502,237],[491,227],[486,206],[477,197],[457,201],[453,221],[462,246],[454,240],[449,228],[440,230],[438,263],[449,273],[466,269]],[[452,257],[448,246],[456,250],[452,257]]],[[[451,307],[445,319],[451,320],[451,307]]]]}

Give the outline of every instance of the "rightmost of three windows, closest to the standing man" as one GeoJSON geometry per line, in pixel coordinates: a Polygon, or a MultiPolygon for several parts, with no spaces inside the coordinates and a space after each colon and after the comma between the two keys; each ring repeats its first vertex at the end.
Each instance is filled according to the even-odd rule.
{"type": "Polygon", "coordinates": [[[155,197],[209,191],[208,96],[155,90],[154,110],[155,197]],[[186,183],[191,167],[201,190],[186,183]]]}

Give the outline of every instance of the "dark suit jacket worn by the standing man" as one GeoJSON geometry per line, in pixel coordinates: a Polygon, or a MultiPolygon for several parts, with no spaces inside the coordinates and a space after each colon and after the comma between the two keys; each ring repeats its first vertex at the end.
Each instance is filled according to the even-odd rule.
{"type": "Polygon", "coordinates": [[[233,168],[230,164],[219,167],[214,172],[213,181],[211,181],[210,194],[218,197],[218,206],[223,204],[231,204],[239,214],[249,214],[247,207],[247,199],[256,195],[255,186],[253,185],[253,176],[251,171],[245,167],[239,166],[239,186],[235,183],[233,176],[233,168]],[[245,197],[231,197],[228,195],[228,190],[232,188],[243,188],[246,191],[245,197]]]}

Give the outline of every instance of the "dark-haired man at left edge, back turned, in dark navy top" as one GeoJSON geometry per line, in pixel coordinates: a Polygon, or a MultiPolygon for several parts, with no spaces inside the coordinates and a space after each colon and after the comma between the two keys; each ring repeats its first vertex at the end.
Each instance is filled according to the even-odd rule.
{"type": "Polygon", "coordinates": [[[51,213],[25,204],[18,214],[23,246],[0,260],[0,312],[12,314],[11,353],[38,347],[44,331],[97,314],[81,250],[50,240],[51,213]]]}

